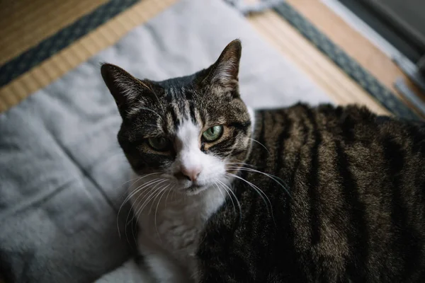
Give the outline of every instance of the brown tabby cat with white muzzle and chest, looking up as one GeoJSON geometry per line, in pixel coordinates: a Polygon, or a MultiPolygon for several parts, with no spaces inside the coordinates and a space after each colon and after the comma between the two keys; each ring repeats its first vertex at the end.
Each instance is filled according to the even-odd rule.
{"type": "Polygon", "coordinates": [[[425,282],[424,123],[356,105],[254,112],[241,53],[234,40],[208,69],[166,81],[101,67],[152,277],[425,282]]]}

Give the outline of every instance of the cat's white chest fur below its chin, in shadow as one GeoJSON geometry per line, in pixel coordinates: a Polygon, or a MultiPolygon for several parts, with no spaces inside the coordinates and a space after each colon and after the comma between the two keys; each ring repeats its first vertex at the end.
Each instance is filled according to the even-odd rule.
{"type": "MultiPolygon", "coordinates": [[[[149,195],[149,194],[148,194],[149,195]]],[[[132,197],[132,205],[137,212],[137,197],[132,197]]],[[[181,195],[176,192],[164,193],[145,204],[138,215],[140,226],[138,237],[140,253],[145,255],[149,265],[166,262],[170,277],[181,277],[170,282],[188,282],[188,277],[196,275],[196,250],[200,233],[208,218],[222,205],[225,197],[217,187],[210,187],[198,195],[181,195]],[[153,259],[153,262],[152,262],[153,259]],[[177,273],[177,274],[176,274],[177,273]]],[[[161,271],[162,272],[162,271],[161,271]]],[[[163,280],[167,282],[167,280],[163,280]]]]}

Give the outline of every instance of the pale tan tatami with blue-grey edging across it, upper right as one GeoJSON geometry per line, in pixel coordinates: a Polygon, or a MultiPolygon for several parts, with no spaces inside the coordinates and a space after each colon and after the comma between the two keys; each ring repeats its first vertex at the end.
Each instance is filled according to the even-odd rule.
{"type": "Polygon", "coordinates": [[[389,57],[319,1],[288,0],[273,11],[251,16],[251,22],[330,96],[338,97],[337,103],[363,104],[375,112],[378,106],[392,115],[421,119],[421,112],[393,84],[404,79],[416,95],[424,94],[389,57]],[[300,37],[306,48],[299,48],[304,46],[300,37]],[[351,88],[353,83],[357,87],[351,88]]]}

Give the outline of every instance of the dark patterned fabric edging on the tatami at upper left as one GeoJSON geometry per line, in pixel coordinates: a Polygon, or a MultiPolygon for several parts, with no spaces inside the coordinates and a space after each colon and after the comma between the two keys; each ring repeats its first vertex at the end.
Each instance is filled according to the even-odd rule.
{"type": "Polygon", "coordinates": [[[140,0],[110,0],[96,8],[91,13],[82,16],[77,21],[63,28],[38,45],[14,57],[0,66],[0,87],[26,73],[53,54],[60,52],[72,42],[91,32],[99,25],[125,11],[140,0]]]}

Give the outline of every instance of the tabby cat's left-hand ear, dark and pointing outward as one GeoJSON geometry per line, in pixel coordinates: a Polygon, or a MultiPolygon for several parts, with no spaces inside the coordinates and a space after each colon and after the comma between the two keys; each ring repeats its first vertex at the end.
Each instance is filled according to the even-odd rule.
{"type": "Polygon", "coordinates": [[[143,93],[151,92],[147,83],[136,79],[124,69],[113,64],[102,64],[101,74],[120,112],[140,100],[143,93]]]}

